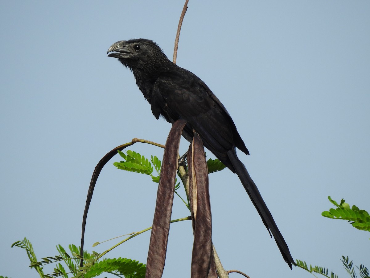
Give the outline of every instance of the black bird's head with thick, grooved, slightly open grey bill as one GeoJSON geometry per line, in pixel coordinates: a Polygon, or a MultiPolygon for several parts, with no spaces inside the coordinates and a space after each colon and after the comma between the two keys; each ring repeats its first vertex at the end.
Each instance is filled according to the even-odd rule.
{"type": "Polygon", "coordinates": [[[109,57],[120,59],[131,70],[169,61],[162,49],[147,39],[121,40],[112,44],[107,53],[109,57]]]}

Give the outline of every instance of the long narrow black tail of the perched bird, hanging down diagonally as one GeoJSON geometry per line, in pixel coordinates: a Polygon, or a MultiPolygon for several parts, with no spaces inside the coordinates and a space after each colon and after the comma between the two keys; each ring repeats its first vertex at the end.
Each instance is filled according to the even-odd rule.
{"type": "Polygon", "coordinates": [[[250,178],[249,173],[245,168],[244,164],[238,159],[238,156],[236,156],[235,150],[229,150],[228,157],[235,168],[236,174],[239,176],[240,181],[242,182],[250,199],[252,200],[259,215],[261,216],[263,223],[270,232],[270,235],[272,234],[274,236],[276,244],[279,247],[284,260],[292,269],[292,264],[295,265],[295,262],[292,258],[292,255],[290,255],[288,245],[286,244],[282,234],[277,228],[276,223],[272,218],[271,212],[267,208],[265,201],[263,201],[256,184],[253,182],[252,178],[250,178]]]}

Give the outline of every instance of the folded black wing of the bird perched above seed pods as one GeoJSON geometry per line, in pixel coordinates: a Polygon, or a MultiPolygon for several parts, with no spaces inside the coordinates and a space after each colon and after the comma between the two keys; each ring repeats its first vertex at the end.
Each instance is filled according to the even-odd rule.
{"type": "MultiPolygon", "coordinates": [[[[158,113],[160,110],[169,122],[187,120],[199,133],[205,147],[229,166],[228,150],[235,146],[239,148],[239,145],[244,148],[241,149],[243,152],[248,150],[222,103],[201,79],[187,70],[183,71],[161,75],[157,79],[152,95],[154,99],[151,100],[152,111],[158,113]]],[[[192,130],[187,130],[187,133],[192,137],[192,130]]]]}

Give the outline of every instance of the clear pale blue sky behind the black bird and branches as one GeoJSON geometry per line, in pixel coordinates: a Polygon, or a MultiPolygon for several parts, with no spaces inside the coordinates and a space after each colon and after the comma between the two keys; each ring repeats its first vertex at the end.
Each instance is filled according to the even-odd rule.
{"type": "MultiPolygon", "coordinates": [[[[1,1],[0,275],[38,277],[38,258],[80,244],[92,171],[132,138],[164,143],[132,73],[107,57],[118,41],[152,39],[172,59],[182,1],[1,1]]],[[[348,255],[370,267],[369,233],[321,216],[327,196],[370,211],[370,2],[192,1],[177,63],[201,77],[228,109],[250,151],[240,154],[293,258],[333,269],[348,255]]],[[[188,147],[182,140],[181,152],[188,147]]],[[[135,145],[149,156],[162,150],[135,145]]],[[[85,246],[151,226],[156,184],[103,169],[85,246]]],[[[250,277],[291,271],[236,175],[210,176],[213,242],[226,269],[250,277]]],[[[180,191],[182,192],[182,191],[180,191]]],[[[175,198],[172,218],[188,216],[175,198]]],[[[146,262],[149,235],[108,253],[146,262]]],[[[190,222],[171,226],[164,277],[189,277],[190,222]]],[[[108,276],[108,275],[107,275],[108,276]]],[[[232,275],[230,275],[231,277],[232,275]]],[[[233,274],[232,277],[237,274],[233,274]]],[[[102,276],[104,277],[104,276],[102,276]]],[[[109,277],[109,276],[108,276],[109,277]]]]}

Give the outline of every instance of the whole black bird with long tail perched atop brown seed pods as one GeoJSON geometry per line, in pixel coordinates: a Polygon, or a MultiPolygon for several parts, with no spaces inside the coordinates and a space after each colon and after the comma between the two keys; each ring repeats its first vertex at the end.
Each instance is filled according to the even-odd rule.
{"type": "Polygon", "coordinates": [[[132,71],[155,118],[162,115],[171,124],[178,119],[187,120],[182,135],[191,142],[194,129],[203,145],[239,176],[284,260],[292,268],[295,263],[289,248],[257,186],[236,155],[236,148],[246,155],[249,151],[231,116],[211,89],[194,73],[172,63],[152,40],[122,40],[112,44],[107,53],[132,71]]]}

